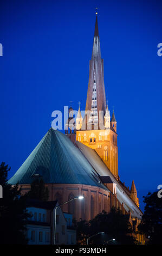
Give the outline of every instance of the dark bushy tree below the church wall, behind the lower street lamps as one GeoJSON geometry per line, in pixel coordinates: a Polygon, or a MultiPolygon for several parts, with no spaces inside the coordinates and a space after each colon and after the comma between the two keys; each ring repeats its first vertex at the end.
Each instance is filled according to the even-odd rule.
{"type": "Polygon", "coordinates": [[[109,214],[102,211],[101,214],[96,215],[89,222],[81,221],[77,223],[76,230],[78,238],[82,240],[81,243],[85,243],[88,237],[102,232],[104,234],[89,239],[89,243],[112,243],[112,239],[115,239],[113,243],[125,245],[137,242],[133,237],[133,228],[129,223],[128,215],[123,215],[119,209],[116,210],[115,208],[112,208],[109,214]]]}

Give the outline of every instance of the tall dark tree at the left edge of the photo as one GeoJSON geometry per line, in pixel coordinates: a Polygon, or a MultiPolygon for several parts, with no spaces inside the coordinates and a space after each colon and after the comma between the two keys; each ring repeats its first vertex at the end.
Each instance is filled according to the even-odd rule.
{"type": "Polygon", "coordinates": [[[8,184],[10,168],[4,162],[0,165],[0,184],[3,187],[3,198],[0,198],[0,243],[25,244],[25,224],[29,217],[26,211],[27,196],[21,195],[18,184],[8,184]]]}

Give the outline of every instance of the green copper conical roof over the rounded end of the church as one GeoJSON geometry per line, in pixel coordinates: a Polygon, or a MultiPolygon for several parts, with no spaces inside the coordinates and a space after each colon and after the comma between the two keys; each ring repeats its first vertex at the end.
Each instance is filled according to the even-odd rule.
{"type": "Polygon", "coordinates": [[[35,177],[57,184],[86,184],[105,188],[94,168],[63,133],[50,129],[8,181],[30,184],[35,177]]]}

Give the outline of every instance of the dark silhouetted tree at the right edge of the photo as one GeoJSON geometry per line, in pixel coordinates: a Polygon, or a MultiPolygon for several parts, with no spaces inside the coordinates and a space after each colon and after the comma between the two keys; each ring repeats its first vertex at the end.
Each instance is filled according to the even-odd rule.
{"type": "Polygon", "coordinates": [[[140,234],[144,234],[147,243],[161,245],[162,237],[162,198],[159,198],[157,192],[149,192],[144,197],[145,211],[142,215],[142,221],[138,226],[140,234]]]}

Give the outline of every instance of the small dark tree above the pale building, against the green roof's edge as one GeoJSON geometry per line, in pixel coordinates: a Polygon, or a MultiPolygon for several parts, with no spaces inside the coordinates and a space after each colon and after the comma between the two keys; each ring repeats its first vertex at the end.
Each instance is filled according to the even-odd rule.
{"type": "Polygon", "coordinates": [[[48,188],[45,187],[43,179],[35,179],[31,183],[31,190],[28,192],[28,197],[41,201],[47,201],[49,198],[48,188]]]}

